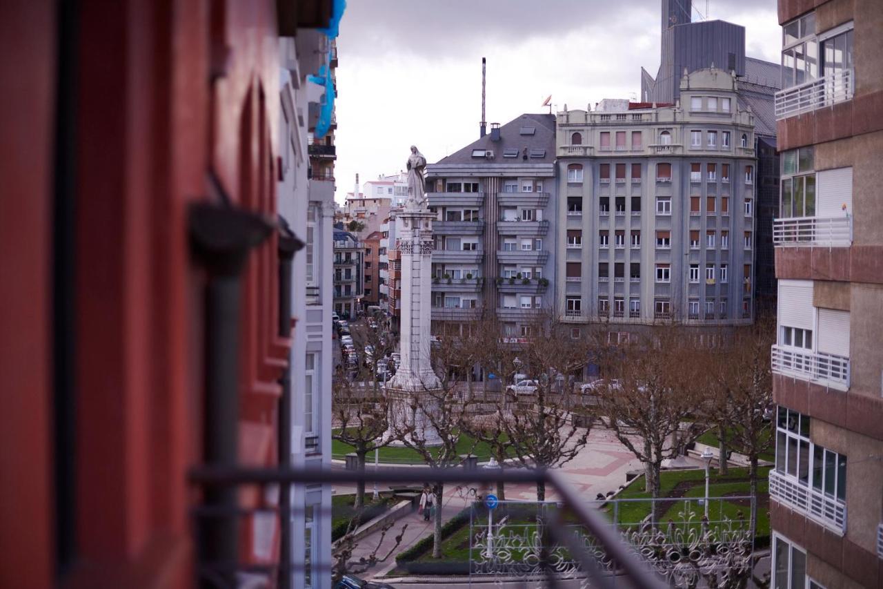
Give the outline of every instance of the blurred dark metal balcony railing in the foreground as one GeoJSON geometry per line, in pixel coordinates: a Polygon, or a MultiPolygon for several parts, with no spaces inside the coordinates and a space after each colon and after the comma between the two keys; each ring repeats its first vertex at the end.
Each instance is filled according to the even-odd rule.
{"type": "MultiPolygon", "coordinates": [[[[651,536],[656,537],[659,535],[656,526],[635,523],[624,531],[618,530],[599,509],[595,509],[597,505],[593,505],[592,501],[586,501],[581,493],[571,488],[557,470],[394,467],[369,471],[200,466],[191,470],[190,480],[192,484],[199,486],[204,496],[208,498],[205,500],[205,505],[192,512],[196,524],[199,558],[196,570],[200,586],[241,586],[244,578],[253,582],[255,586],[277,584],[289,586],[283,581],[292,573],[304,573],[307,567],[311,578],[339,576],[345,572],[347,564],[345,559],[341,562],[332,555],[329,561],[324,562],[317,558],[321,551],[315,550],[314,547],[310,548],[307,562],[304,559],[293,559],[291,551],[282,552],[275,559],[269,556],[258,562],[241,562],[243,553],[239,548],[245,534],[241,533],[244,530],[240,528],[245,526],[241,525],[240,520],[247,518],[252,524],[260,520],[261,525],[253,525],[253,529],[249,532],[256,533],[254,531],[259,529],[268,531],[265,535],[272,538],[272,532],[278,527],[279,522],[286,521],[280,518],[289,518],[293,515],[291,509],[279,505],[278,497],[284,496],[280,490],[291,489],[292,485],[353,485],[359,481],[384,485],[420,485],[424,481],[471,485],[491,485],[496,482],[531,484],[542,482],[554,489],[560,503],[555,505],[555,509],[543,509],[541,533],[540,526],[537,525],[540,537],[536,539],[541,549],[537,551],[537,559],[532,563],[531,570],[516,570],[508,565],[501,570],[490,570],[487,559],[479,558],[479,562],[473,563],[478,565],[474,567],[475,574],[489,572],[499,577],[507,573],[515,573],[518,576],[520,573],[524,581],[539,586],[556,586],[562,580],[576,579],[585,580],[587,586],[592,587],[613,587],[614,583],[620,586],[620,583],[625,582],[627,586],[640,589],[662,589],[667,585],[658,575],[670,574],[668,559],[666,562],[660,562],[665,565],[664,568],[660,568],[653,560],[646,562],[635,547],[630,546],[623,539],[623,532],[628,538],[634,535],[632,528],[639,525],[644,526],[642,531],[647,532],[648,539],[651,536]],[[239,489],[254,492],[238,493],[239,489]],[[219,504],[211,500],[211,498],[216,499],[220,493],[227,493],[227,502],[219,504]],[[237,504],[235,498],[239,497],[241,501],[245,496],[252,497],[256,505],[245,508],[237,504]],[[233,501],[230,502],[230,499],[233,501]],[[557,566],[562,561],[562,555],[566,556],[568,561],[566,570],[557,566]],[[656,572],[653,572],[652,566],[656,572]]],[[[315,515],[313,513],[313,516],[315,515]]],[[[729,522],[724,524],[732,525],[729,522]]],[[[683,525],[686,530],[698,524],[691,521],[683,525]]],[[[661,526],[658,529],[661,532],[661,526]]],[[[501,542],[504,541],[505,539],[501,538],[501,542]]],[[[740,547],[744,544],[741,539],[738,543],[740,547]]],[[[268,549],[268,553],[272,552],[268,549]]],[[[472,550],[470,552],[472,553],[472,550]]],[[[485,555],[491,555],[492,550],[487,547],[483,552],[485,555]]],[[[492,558],[490,564],[494,562],[496,560],[492,558]]]]}

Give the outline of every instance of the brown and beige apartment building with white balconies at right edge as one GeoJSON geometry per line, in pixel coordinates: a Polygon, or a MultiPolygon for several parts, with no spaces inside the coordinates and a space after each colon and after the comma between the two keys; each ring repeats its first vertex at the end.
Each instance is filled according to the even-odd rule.
{"type": "Polygon", "coordinates": [[[883,585],[883,6],[780,0],[773,587],[883,585]]]}

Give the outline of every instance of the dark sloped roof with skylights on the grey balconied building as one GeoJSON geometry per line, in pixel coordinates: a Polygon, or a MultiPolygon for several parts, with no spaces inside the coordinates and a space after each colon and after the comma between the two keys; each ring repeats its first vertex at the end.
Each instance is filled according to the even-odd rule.
{"type": "Polygon", "coordinates": [[[507,164],[528,162],[531,164],[551,164],[555,162],[555,115],[525,113],[500,127],[500,141],[491,141],[490,129],[487,135],[472,142],[448,157],[442,157],[437,164],[507,164]],[[533,134],[521,134],[522,127],[533,127],[533,134]],[[473,149],[492,149],[494,157],[472,157],[473,149]],[[504,149],[517,149],[518,157],[503,157],[504,149]],[[523,154],[527,149],[527,159],[523,154]],[[532,149],[545,149],[543,157],[530,157],[532,149]]]}

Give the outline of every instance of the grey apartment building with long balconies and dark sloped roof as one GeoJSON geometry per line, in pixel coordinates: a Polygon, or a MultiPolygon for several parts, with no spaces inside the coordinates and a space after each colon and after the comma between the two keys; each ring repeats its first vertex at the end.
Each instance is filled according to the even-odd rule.
{"type": "Polygon", "coordinates": [[[525,337],[554,301],[555,117],[524,114],[426,168],[433,329],[496,317],[525,337]]]}

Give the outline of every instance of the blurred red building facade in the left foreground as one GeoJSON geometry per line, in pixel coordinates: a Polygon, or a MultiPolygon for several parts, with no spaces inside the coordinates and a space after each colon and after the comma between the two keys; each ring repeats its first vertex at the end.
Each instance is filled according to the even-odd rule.
{"type": "MultiPolygon", "coordinates": [[[[215,322],[238,463],[277,462],[275,40],[331,3],[62,4],[0,9],[0,586],[190,586],[215,322]]],[[[254,529],[239,560],[275,558],[254,529]]]]}

